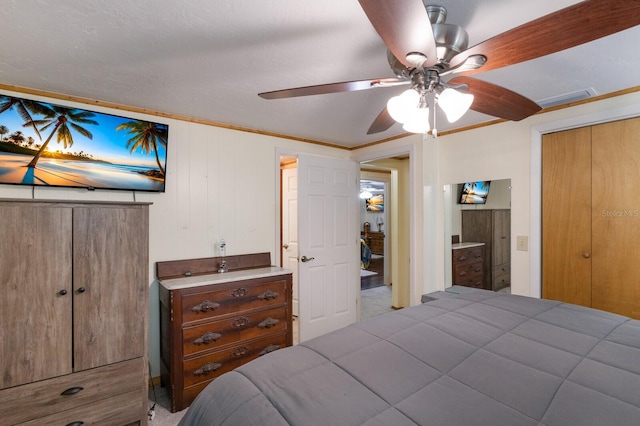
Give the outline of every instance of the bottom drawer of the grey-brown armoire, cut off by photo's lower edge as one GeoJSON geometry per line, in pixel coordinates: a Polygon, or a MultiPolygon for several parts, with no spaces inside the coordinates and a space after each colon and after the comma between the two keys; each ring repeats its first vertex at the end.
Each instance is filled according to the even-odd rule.
{"type": "Polygon", "coordinates": [[[144,415],[140,390],[106,398],[72,410],[20,423],[20,426],[42,425],[129,425],[142,421],[144,415]]]}

